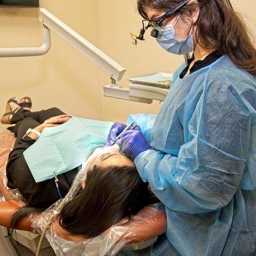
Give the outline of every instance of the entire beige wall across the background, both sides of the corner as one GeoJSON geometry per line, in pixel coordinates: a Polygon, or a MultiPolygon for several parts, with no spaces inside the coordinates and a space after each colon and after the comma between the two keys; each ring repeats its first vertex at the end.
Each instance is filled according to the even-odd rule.
{"type": "MultiPolygon", "coordinates": [[[[248,17],[246,22],[256,35],[255,0],[232,3],[248,17]]],[[[173,72],[182,61],[164,52],[148,33],[145,42],[132,45],[129,32],[141,28],[136,0],[40,0],[40,5],[127,68],[125,77],[173,72]]],[[[0,47],[40,45],[40,28],[36,9],[0,8],[0,47]]],[[[59,106],[73,115],[124,121],[128,113],[157,113],[161,106],[103,97],[102,86],[109,77],[54,33],[48,54],[0,59],[0,74],[2,109],[9,97],[30,95],[34,109],[59,106]]],[[[126,79],[120,84],[128,86],[126,79]]]]}

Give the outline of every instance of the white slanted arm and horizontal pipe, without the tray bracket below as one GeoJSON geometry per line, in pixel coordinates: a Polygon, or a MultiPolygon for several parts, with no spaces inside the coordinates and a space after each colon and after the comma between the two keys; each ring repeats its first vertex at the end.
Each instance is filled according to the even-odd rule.
{"type": "Polygon", "coordinates": [[[63,21],[54,16],[45,8],[40,8],[39,20],[44,24],[43,38],[41,47],[12,47],[0,48],[0,58],[5,57],[23,57],[38,56],[47,53],[51,47],[51,30],[61,36],[72,47],[79,51],[88,60],[106,72],[112,80],[112,83],[122,79],[125,68],[111,59],[107,54],[100,51],[95,45],[79,35],[74,29],[70,28],[63,21]]]}

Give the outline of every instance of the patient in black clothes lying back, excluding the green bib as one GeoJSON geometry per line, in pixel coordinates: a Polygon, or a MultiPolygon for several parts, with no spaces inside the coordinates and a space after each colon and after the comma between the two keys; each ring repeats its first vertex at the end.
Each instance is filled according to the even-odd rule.
{"type": "MultiPolygon", "coordinates": [[[[69,118],[57,108],[38,112],[31,112],[29,107],[20,108],[15,98],[6,105],[1,122],[14,124],[10,129],[17,136],[6,166],[8,187],[17,188],[28,205],[33,206],[21,207],[15,212],[11,227],[17,227],[22,218],[35,209],[43,210],[59,199],[54,179],[35,183],[31,175],[23,152],[35,143],[40,134],[26,134],[26,131],[32,128],[42,132],[45,127],[61,125],[69,118]],[[45,120],[48,122],[45,123],[45,120]]],[[[58,175],[63,196],[67,194],[79,168],[58,175]]],[[[68,233],[95,237],[125,216],[131,218],[151,203],[147,184],[141,180],[131,159],[120,154],[119,147],[95,150],[88,169],[83,188],[60,212],[60,226],[68,233]]]]}

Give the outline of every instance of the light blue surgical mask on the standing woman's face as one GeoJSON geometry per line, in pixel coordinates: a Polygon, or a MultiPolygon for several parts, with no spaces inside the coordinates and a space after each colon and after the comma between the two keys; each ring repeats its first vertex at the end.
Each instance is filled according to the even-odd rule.
{"type": "MultiPolygon", "coordinates": [[[[180,17],[180,15],[179,15],[180,17]]],[[[189,31],[189,36],[185,40],[177,40],[175,38],[175,25],[177,24],[176,20],[175,24],[168,24],[164,28],[159,27],[159,36],[156,38],[159,45],[161,45],[166,51],[173,54],[187,54],[193,51],[193,34],[192,28],[189,31]]]]}

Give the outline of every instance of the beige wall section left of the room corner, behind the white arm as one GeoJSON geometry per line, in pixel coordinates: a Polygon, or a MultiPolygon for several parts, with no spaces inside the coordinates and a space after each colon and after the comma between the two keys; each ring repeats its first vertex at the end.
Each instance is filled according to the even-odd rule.
{"type": "MultiPolygon", "coordinates": [[[[41,4],[99,44],[97,1],[76,1],[72,8],[70,1],[41,4]]],[[[42,44],[41,28],[36,8],[0,8],[0,47],[38,46],[42,44]]],[[[77,116],[102,118],[99,69],[54,33],[48,54],[2,58],[0,74],[1,112],[8,98],[29,95],[35,110],[58,106],[77,116]]]]}

